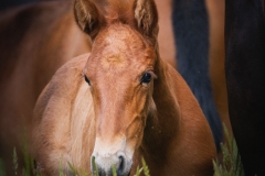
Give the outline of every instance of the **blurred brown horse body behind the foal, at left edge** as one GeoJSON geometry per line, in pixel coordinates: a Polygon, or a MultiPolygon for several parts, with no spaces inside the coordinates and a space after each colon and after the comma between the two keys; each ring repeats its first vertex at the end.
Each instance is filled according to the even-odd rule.
{"type": "Polygon", "coordinates": [[[12,152],[19,166],[22,132],[31,136],[36,99],[56,69],[89,52],[74,21],[71,2],[50,1],[0,14],[0,158],[12,175],[12,152]]]}

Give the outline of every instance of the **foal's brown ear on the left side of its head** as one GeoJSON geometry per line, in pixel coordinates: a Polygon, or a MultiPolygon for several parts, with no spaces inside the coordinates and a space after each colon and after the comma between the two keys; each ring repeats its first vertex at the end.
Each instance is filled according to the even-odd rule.
{"type": "Polygon", "coordinates": [[[75,0],[75,21],[82,31],[94,40],[100,28],[106,23],[104,15],[98,11],[92,0],[75,0]]]}

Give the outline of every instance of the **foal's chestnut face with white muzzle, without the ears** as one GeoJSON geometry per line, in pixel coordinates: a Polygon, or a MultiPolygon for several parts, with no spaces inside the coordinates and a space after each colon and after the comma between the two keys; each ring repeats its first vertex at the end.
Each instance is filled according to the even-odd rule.
{"type": "Polygon", "coordinates": [[[103,30],[84,69],[96,114],[92,160],[107,174],[127,175],[152,100],[155,50],[123,24],[103,30]]]}

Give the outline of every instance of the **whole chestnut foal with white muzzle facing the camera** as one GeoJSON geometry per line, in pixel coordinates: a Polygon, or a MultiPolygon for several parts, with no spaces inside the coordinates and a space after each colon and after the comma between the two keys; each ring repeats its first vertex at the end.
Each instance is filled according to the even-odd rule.
{"type": "Polygon", "coordinates": [[[152,0],[112,2],[105,18],[89,0],[75,16],[89,34],[91,54],[60,68],[34,110],[33,154],[43,175],[67,162],[100,175],[136,170],[141,156],[151,175],[211,175],[215,146],[186,81],[159,56],[152,0]],[[94,170],[94,168],[92,168],[94,170]]]}

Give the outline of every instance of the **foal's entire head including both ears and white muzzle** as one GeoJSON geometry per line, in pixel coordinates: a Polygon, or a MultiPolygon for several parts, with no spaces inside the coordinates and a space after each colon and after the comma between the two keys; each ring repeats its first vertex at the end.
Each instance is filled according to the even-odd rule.
{"type": "MultiPolygon", "coordinates": [[[[84,79],[93,95],[99,173],[128,175],[152,106],[158,14],[153,0],[110,1],[105,16],[91,0],[75,1],[75,18],[93,42],[84,79]]],[[[93,168],[94,169],[94,168],[93,168]]]]}

